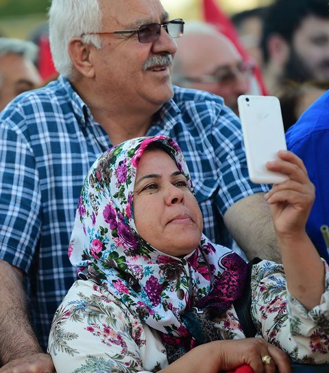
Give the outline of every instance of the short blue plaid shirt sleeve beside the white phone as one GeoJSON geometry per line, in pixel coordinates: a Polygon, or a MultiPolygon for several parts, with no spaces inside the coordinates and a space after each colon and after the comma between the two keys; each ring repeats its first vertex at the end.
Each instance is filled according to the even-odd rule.
{"type": "Polygon", "coordinates": [[[224,215],[235,202],[249,195],[266,193],[269,186],[254,184],[249,179],[239,118],[226,106],[220,108],[220,112],[216,113],[212,107],[215,118],[212,126],[212,144],[220,185],[217,206],[224,215]]]}

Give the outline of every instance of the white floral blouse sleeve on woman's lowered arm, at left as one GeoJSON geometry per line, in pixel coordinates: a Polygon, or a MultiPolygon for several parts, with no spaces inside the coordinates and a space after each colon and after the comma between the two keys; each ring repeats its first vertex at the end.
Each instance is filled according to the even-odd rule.
{"type": "Polygon", "coordinates": [[[76,281],[53,318],[48,351],[56,372],[147,373],[163,368],[156,363],[156,357],[162,365],[167,362],[160,341],[152,335],[147,346],[141,321],[106,289],[90,283],[76,281]],[[147,359],[153,367],[147,367],[147,359]]]}

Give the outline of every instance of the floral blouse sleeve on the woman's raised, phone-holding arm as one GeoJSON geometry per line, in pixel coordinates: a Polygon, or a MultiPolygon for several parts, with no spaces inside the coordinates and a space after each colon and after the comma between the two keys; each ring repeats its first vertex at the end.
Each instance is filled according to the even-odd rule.
{"type": "Polygon", "coordinates": [[[262,261],[252,272],[252,317],[258,333],[298,363],[328,363],[329,272],[320,304],[307,311],[286,289],[282,265],[262,261]]]}

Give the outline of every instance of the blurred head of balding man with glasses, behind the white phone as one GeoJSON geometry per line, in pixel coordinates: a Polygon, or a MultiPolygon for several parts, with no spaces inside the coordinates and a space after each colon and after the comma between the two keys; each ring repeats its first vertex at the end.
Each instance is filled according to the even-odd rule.
{"type": "Polygon", "coordinates": [[[236,100],[247,93],[251,74],[252,65],[243,62],[230,39],[208,23],[186,22],[173,65],[174,84],[219,95],[238,114],[236,100]]]}

